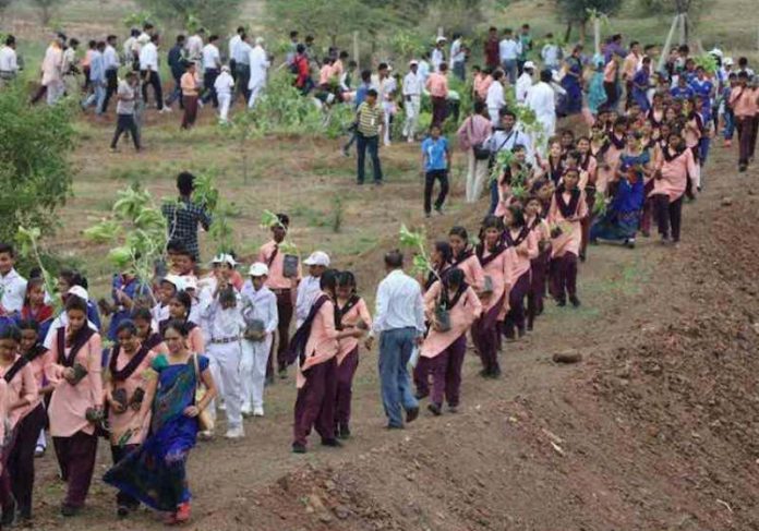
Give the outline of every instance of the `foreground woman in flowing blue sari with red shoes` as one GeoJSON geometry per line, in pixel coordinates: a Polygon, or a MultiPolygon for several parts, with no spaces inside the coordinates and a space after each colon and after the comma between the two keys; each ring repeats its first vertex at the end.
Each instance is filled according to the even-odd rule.
{"type": "Polygon", "coordinates": [[[190,352],[186,338],[184,323],[172,321],[167,325],[164,341],[169,353],[154,360],[156,377],[150,379],[141,414],[132,427],[140,430],[145,415],[152,414],[150,433],[140,448],[104,478],[106,483],[148,507],[168,512],[169,524],[190,519],[186,460],[195,446],[197,418],[216,396],[208,359],[190,352]],[[198,379],[207,390],[196,402],[198,379]]]}

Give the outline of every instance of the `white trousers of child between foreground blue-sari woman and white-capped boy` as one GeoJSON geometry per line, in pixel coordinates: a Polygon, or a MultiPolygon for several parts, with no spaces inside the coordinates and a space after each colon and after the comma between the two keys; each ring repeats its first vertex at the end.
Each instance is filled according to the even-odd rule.
{"type": "MultiPolygon", "coordinates": [[[[210,343],[206,348],[210,361],[210,374],[227,407],[228,427],[242,425],[242,382],[240,378],[240,341],[231,343],[210,343]]],[[[216,401],[216,400],[214,400],[216,401]]],[[[216,405],[210,406],[212,414],[216,405]]]]}

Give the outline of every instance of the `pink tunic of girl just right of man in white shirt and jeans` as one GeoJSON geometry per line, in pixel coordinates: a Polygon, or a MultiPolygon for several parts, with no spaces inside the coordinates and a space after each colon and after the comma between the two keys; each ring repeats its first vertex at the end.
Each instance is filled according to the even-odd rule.
{"type": "MultiPolygon", "coordinates": [[[[432,318],[435,312],[435,303],[441,293],[441,282],[430,288],[424,295],[424,305],[427,317],[432,318]]],[[[454,293],[450,293],[454,297],[454,293]]],[[[454,341],[460,338],[472,326],[482,313],[482,304],[471,287],[468,287],[456,305],[450,309],[450,330],[437,331],[430,328],[430,334],[424,339],[420,355],[424,358],[435,358],[447,349],[454,341]]]]}

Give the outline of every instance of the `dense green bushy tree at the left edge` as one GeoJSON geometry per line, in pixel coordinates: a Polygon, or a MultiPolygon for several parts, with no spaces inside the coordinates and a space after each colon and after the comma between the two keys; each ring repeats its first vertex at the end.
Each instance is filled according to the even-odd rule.
{"type": "Polygon", "coordinates": [[[56,226],[56,208],[71,194],[72,107],[29,107],[21,83],[0,90],[0,240],[19,227],[56,226]]]}

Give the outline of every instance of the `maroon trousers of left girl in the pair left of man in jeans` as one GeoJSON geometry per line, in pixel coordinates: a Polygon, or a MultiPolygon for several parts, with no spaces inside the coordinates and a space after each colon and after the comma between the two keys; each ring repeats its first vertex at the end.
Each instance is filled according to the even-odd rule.
{"type": "Polygon", "coordinates": [[[332,441],[335,438],[336,360],[333,358],[312,366],[305,378],[296,400],[294,443],[305,445],[312,427],[316,429],[322,441],[332,441]]]}

